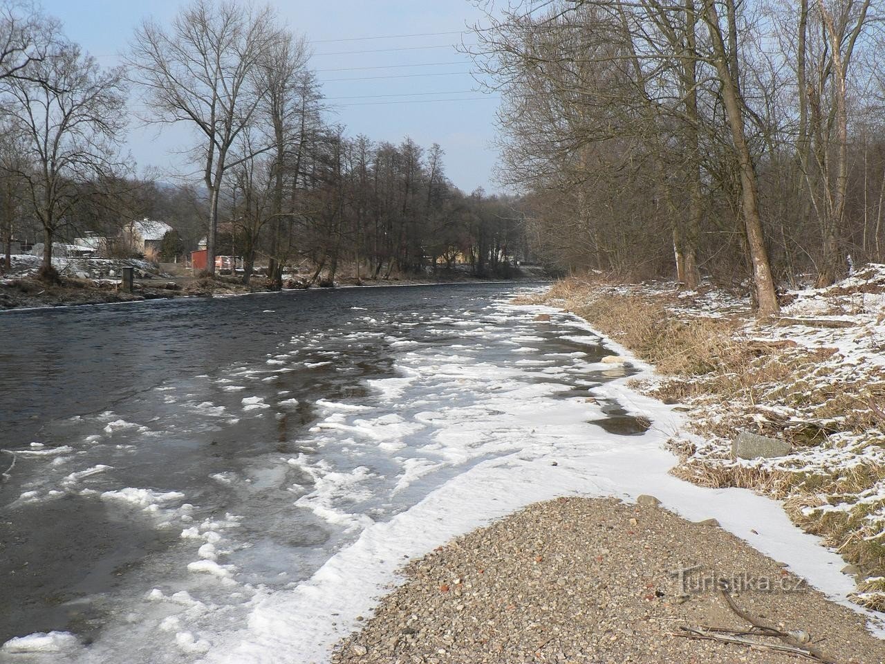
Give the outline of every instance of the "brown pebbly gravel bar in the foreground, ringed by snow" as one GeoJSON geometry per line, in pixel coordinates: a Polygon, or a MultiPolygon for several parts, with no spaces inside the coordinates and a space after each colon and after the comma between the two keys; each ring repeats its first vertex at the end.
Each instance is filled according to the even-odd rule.
{"type": "Polygon", "coordinates": [[[806,632],[840,664],[885,662],[885,641],[866,631],[863,616],[809,590],[715,524],[648,504],[539,503],[413,561],[405,574],[408,581],[382,600],[364,629],[338,646],[335,664],[813,661],[672,636],[681,627],[750,629],[720,592],[704,588],[703,579],[709,586],[714,578],[733,580],[730,597],[746,613],[806,632]],[[694,565],[703,567],[684,584],[671,574],[694,565]]]}

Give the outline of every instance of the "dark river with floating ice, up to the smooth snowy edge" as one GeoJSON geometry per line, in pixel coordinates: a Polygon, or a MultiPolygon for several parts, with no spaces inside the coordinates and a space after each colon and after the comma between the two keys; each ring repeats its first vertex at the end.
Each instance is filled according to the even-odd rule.
{"type": "Polygon", "coordinates": [[[0,315],[0,644],[57,632],[0,659],[218,659],[366,529],[490,460],[555,465],[557,404],[642,436],[590,398],[629,367],[572,316],[509,304],[537,288],[0,315]]]}

